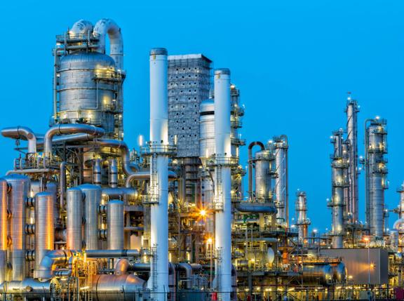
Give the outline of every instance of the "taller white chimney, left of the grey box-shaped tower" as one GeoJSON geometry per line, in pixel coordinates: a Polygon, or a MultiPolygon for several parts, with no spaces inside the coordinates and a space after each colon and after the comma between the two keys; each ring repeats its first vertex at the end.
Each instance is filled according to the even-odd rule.
{"type": "Polygon", "coordinates": [[[168,60],[165,48],[150,51],[150,246],[155,248],[149,288],[156,300],[168,292],[168,60]]]}

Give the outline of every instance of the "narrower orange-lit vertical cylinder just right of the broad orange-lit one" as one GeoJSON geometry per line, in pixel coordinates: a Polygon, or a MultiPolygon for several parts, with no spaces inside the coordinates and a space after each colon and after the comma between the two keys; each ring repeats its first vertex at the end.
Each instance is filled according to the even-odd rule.
{"type": "MultiPolygon", "coordinates": [[[[35,271],[48,251],[53,250],[55,227],[53,225],[54,194],[39,192],[35,195],[35,271]]],[[[35,272],[34,272],[35,274],[35,272]]]]}

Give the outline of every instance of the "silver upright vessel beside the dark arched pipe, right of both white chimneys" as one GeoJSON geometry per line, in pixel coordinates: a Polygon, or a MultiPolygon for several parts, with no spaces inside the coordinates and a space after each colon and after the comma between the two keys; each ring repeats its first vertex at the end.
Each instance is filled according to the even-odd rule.
{"type": "Polygon", "coordinates": [[[255,199],[269,201],[271,195],[271,153],[264,149],[255,153],[255,199]]]}

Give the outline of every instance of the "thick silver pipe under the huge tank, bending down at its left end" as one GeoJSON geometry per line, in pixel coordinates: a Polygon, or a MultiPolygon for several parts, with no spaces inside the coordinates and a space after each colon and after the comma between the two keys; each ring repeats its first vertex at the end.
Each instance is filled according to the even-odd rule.
{"type": "Polygon", "coordinates": [[[103,128],[97,128],[96,126],[90,126],[88,124],[58,124],[56,126],[52,126],[48,129],[45,134],[44,145],[43,145],[43,153],[45,157],[50,158],[52,156],[52,138],[54,135],[65,135],[65,134],[77,134],[77,133],[85,133],[100,137],[104,135],[105,131],[103,128]]]}

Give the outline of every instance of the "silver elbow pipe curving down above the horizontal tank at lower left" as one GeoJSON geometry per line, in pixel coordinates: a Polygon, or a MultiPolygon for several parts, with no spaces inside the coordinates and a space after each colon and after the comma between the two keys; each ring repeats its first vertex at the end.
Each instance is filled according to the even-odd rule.
{"type": "Polygon", "coordinates": [[[35,278],[49,279],[55,273],[58,265],[67,265],[72,257],[72,252],[69,250],[50,250],[42,258],[38,269],[35,271],[35,278]]]}

